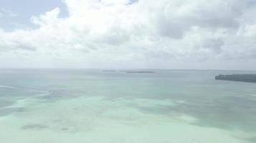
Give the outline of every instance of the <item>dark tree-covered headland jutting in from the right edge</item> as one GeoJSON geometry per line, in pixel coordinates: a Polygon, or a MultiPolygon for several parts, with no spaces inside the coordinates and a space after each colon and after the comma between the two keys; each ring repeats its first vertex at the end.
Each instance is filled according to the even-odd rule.
{"type": "Polygon", "coordinates": [[[256,83],[256,74],[219,74],[215,77],[216,80],[228,80],[235,82],[253,82],[256,83]]]}

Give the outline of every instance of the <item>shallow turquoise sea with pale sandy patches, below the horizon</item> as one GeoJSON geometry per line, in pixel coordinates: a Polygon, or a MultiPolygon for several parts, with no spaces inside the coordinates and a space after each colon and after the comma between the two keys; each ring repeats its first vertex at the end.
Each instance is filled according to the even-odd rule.
{"type": "Polygon", "coordinates": [[[253,143],[256,71],[1,69],[3,143],[253,143]]]}

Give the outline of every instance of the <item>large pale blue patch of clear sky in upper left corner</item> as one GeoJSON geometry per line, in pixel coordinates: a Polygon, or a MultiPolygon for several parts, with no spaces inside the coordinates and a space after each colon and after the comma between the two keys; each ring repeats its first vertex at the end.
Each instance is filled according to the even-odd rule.
{"type": "Polygon", "coordinates": [[[30,21],[30,17],[39,16],[55,7],[60,8],[60,17],[68,16],[68,11],[62,0],[1,0],[0,13],[5,13],[5,15],[1,16],[0,27],[6,31],[35,28],[35,25],[30,21]],[[6,14],[8,11],[12,11],[13,15],[6,14]]]}

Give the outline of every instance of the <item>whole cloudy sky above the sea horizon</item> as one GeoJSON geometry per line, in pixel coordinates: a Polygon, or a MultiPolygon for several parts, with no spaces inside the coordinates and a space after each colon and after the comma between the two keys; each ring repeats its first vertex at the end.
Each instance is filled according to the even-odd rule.
{"type": "Polygon", "coordinates": [[[256,69],[256,0],[0,0],[0,67],[256,69]]]}

